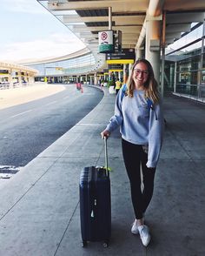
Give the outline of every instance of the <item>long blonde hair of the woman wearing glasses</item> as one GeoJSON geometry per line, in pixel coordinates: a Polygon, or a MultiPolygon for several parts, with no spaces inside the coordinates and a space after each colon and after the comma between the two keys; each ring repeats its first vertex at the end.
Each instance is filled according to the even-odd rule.
{"type": "Polygon", "coordinates": [[[144,89],[145,89],[145,98],[150,98],[155,104],[157,104],[159,102],[159,91],[157,89],[158,84],[155,80],[155,75],[154,75],[152,65],[149,63],[149,61],[147,59],[138,59],[138,60],[136,60],[135,64],[133,64],[131,72],[129,74],[129,79],[127,82],[127,88],[128,88],[127,95],[130,98],[133,97],[133,93],[136,88],[136,84],[133,79],[133,72],[136,67],[136,64],[139,64],[139,63],[146,64],[148,67],[148,71],[149,71],[148,80],[145,84],[143,84],[144,89]]]}

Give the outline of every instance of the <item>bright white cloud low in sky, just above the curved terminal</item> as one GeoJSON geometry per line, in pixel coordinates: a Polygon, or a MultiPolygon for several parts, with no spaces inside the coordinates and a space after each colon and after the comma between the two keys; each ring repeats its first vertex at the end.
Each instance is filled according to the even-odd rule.
{"type": "Polygon", "coordinates": [[[84,47],[85,45],[75,37],[53,34],[45,40],[38,39],[32,42],[7,44],[0,58],[3,62],[19,62],[31,58],[61,57],[84,47]]]}

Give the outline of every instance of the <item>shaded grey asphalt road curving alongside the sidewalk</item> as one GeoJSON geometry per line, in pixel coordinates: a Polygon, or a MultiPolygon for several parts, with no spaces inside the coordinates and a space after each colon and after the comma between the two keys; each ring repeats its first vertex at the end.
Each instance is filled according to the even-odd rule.
{"type": "Polygon", "coordinates": [[[85,86],[81,92],[67,85],[50,97],[1,110],[0,167],[17,172],[76,125],[102,96],[94,87],[85,86]]]}

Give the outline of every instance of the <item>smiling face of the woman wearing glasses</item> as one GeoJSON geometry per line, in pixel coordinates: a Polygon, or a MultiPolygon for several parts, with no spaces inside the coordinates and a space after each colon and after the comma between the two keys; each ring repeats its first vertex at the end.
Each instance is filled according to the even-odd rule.
{"type": "Polygon", "coordinates": [[[143,90],[144,84],[147,82],[149,77],[149,70],[147,64],[142,62],[136,64],[133,70],[133,80],[136,84],[136,89],[143,90]]]}

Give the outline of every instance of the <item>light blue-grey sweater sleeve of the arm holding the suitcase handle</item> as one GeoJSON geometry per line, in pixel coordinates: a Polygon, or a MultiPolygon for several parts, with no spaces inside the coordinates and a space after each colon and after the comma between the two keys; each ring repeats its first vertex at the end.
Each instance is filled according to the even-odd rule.
{"type": "Polygon", "coordinates": [[[122,125],[122,100],[122,90],[120,90],[116,96],[114,116],[110,118],[109,125],[106,127],[106,130],[109,132],[116,130],[118,126],[122,125]]]}

